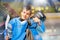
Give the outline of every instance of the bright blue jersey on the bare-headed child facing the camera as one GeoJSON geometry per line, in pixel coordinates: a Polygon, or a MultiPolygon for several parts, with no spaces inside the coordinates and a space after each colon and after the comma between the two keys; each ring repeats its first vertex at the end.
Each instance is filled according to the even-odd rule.
{"type": "Polygon", "coordinates": [[[27,21],[21,22],[20,18],[14,18],[9,24],[12,27],[12,40],[23,40],[26,35],[27,21]]]}

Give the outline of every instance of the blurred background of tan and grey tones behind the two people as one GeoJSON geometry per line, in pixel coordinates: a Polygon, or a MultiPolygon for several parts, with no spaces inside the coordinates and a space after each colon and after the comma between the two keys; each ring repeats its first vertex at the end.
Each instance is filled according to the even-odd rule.
{"type": "Polygon", "coordinates": [[[0,0],[0,39],[3,40],[1,34],[6,14],[16,17],[28,3],[31,4],[32,13],[41,10],[46,15],[43,40],[60,40],[60,0],[0,0]]]}

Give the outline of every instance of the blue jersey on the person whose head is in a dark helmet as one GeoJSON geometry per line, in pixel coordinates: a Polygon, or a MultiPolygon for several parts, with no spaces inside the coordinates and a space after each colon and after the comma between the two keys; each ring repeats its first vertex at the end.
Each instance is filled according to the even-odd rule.
{"type": "Polygon", "coordinates": [[[41,35],[39,35],[39,33],[45,32],[44,21],[41,20],[40,25],[38,23],[34,22],[32,19],[30,21],[31,21],[31,26],[29,27],[29,29],[32,33],[33,39],[42,40],[42,37],[41,37],[41,35]]]}

